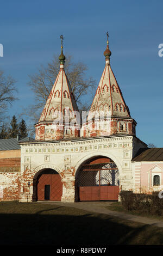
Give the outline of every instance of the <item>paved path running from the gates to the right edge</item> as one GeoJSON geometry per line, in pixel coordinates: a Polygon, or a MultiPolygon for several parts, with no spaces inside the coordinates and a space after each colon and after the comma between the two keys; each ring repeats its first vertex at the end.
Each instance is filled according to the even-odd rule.
{"type": "Polygon", "coordinates": [[[141,217],[141,216],[136,216],[136,215],[131,215],[131,214],[125,214],[122,212],[111,211],[111,210],[106,209],[105,207],[111,205],[112,202],[64,203],[64,202],[39,201],[37,203],[68,206],[68,207],[83,209],[86,211],[96,212],[98,214],[107,214],[112,217],[118,217],[118,218],[122,218],[122,219],[128,220],[128,221],[135,221],[135,222],[145,223],[145,224],[149,224],[149,225],[155,225],[156,227],[163,228],[163,221],[158,221],[158,220],[154,220],[152,218],[141,217]]]}

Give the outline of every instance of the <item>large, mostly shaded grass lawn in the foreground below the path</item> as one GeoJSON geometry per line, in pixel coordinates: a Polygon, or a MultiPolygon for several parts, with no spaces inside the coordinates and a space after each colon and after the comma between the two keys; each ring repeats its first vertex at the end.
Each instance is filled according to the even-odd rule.
{"type": "Polygon", "coordinates": [[[0,220],[0,245],[163,245],[163,228],[55,204],[1,202],[0,220]]]}

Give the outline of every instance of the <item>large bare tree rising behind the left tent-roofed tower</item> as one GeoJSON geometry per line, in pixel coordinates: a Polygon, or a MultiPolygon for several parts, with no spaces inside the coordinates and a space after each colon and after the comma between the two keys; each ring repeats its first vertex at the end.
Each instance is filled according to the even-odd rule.
{"type": "MultiPolygon", "coordinates": [[[[47,66],[41,66],[36,74],[29,76],[30,81],[28,86],[34,92],[35,105],[29,107],[29,113],[25,110],[24,114],[30,116],[33,124],[39,120],[42,109],[59,73],[60,63],[58,57],[54,55],[52,62],[48,63],[47,66]]],[[[92,77],[86,78],[85,71],[87,71],[85,64],[82,62],[73,63],[72,56],[66,56],[65,72],[80,111],[90,107],[92,99],[89,102],[85,99],[85,96],[88,94],[94,95],[96,88],[95,80],[92,77]]]]}

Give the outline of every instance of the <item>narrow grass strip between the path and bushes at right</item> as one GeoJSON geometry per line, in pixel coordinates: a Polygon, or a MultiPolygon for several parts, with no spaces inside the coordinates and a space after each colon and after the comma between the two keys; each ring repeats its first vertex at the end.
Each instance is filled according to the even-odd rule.
{"type": "Polygon", "coordinates": [[[105,208],[108,209],[108,210],[111,210],[111,211],[124,212],[126,214],[133,214],[133,215],[136,215],[136,216],[152,218],[152,219],[157,220],[157,221],[163,221],[163,216],[150,215],[150,214],[142,214],[142,213],[139,214],[136,211],[128,211],[128,210],[123,208],[121,202],[114,202],[111,205],[106,206],[105,208]]]}

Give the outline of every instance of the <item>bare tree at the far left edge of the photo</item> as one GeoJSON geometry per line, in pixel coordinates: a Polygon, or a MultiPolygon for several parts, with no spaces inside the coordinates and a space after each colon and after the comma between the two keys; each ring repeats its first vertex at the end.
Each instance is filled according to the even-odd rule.
{"type": "Polygon", "coordinates": [[[15,80],[11,76],[5,76],[4,71],[0,70],[0,120],[2,121],[3,114],[7,111],[9,105],[17,100],[15,97],[15,80]]]}

